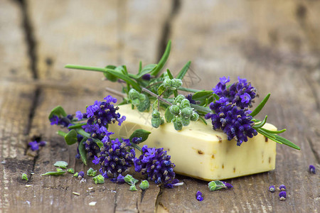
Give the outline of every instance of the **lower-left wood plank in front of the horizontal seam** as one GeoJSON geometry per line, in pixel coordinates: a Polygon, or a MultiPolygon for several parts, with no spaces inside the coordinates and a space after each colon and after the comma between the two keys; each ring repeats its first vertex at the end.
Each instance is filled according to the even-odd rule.
{"type": "Polygon", "coordinates": [[[31,176],[33,158],[25,155],[34,87],[0,84],[0,212],[28,207],[22,173],[31,176]]]}

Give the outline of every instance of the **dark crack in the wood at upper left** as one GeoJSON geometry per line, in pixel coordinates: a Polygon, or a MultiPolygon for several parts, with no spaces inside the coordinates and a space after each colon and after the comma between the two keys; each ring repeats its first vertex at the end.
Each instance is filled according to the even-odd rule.
{"type": "Polygon", "coordinates": [[[30,70],[33,76],[33,79],[38,79],[38,69],[37,69],[37,62],[38,62],[38,56],[36,54],[36,39],[34,38],[33,33],[33,26],[31,24],[31,20],[28,16],[28,9],[26,0],[15,0],[20,4],[21,13],[22,13],[22,26],[23,31],[26,39],[26,43],[28,46],[28,57],[30,60],[30,70]]]}

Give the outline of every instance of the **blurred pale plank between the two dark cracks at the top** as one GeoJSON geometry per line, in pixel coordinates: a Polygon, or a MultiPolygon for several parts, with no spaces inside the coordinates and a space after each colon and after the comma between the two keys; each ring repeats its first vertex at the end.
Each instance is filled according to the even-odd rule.
{"type": "Polygon", "coordinates": [[[95,84],[100,73],[63,67],[67,63],[97,67],[125,64],[135,73],[139,60],[156,62],[169,6],[161,1],[28,1],[38,46],[39,77],[95,84]]]}

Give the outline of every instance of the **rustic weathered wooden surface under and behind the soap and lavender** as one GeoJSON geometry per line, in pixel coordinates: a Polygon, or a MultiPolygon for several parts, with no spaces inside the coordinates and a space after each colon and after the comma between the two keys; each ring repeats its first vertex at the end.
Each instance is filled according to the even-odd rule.
{"type": "Polygon", "coordinates": [[[319,12],[319,1],[0,1],[0,212],[318,212],[319,173],[308,167],[320,169],[319,12]],[[77,171],[92,166],[75,160],[76,148],[55,134],[50,109],[83,110],[106,96],[106,86],[120,88],[64,65],[125,64],[136,72],[139,60],[156,62],[169,39],[167,67],[177,73],[192,61],[186,87],[246,77],[261,97],[272,93],[262,114],[287,127],[284,136],[302,150],[277,146],[276,170],[231,179],[233,190],[217,192],[185,176],[178,176],[181,187],[151,184],[144,193],[110,181],[41,177],[56,160],[77,171]],[[30,151],[34,137],[48,146],[30,151]],[[280,184],[285,202],[267,191],[280,184]]]}

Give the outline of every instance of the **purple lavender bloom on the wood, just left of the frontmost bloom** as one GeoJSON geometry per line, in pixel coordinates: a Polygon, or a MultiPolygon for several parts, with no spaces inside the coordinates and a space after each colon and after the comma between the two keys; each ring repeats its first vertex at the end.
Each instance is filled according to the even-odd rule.
{"type": "Polygon", "coordinates": [[[118,138],[114,141],[103,141],[103,146],[99,157],[95,157],[92,163],[100,163],[100,173],[105,178],[117,178],[119,174],[127,172],[134,159],[134,149],[130,149],[129,139],[122,139],[120,142],[118,138]],[[99,159],[99,160],[98,160],[99,159]]]}

